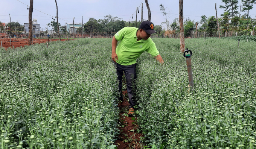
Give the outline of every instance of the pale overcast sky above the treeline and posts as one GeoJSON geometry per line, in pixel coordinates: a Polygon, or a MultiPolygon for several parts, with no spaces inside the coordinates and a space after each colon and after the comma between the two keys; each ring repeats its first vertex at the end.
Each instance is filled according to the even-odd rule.
{"type": "MultiPolygon", "coordinates": [[[[219,9],[219,5],[224,5],[221,1],[184,0],[184,20],[189,17],[191,20],[200,21],[202,15],[216,16],[215,3],[217,3],[218,17],[220,17],[223,9],[219,9]]],[[[27,10],[27,5],[29,6],[29,3],[30,0],[1,0],[0,21],[9,22],[9,14],[11,14],[11,21],[18,21],[22,25],[28,23],[29,10],[27,10]]],[[[140,10],[137,20],[141,20],[141,3],[143,3],[143,19],[147,20],[148,9],[145,0],[57,0],[59,23],[61,25],[65,25],[66,21],[73,23],[73,17],[75,17],[75,23],[81,23],[82,16],[83,23],[86,23],[89,18],[93,17],[98,20],[109,14],[125,21],[136,20],[136,7],[140,10]]],[[[171,22],[175,17],[178,17],[179,0],[148,0],[148,3],[151,10],[151,21],[154,24],[160,25],[161,22],[165,21],[165,17],[160,12],[160,4],[163,4],[167,8],[166,10],[170,12],[169,20],[171,22]]],[[[256,5],[249,15],[255,18],[256,5]]],[[[34,0],[32,18],[38,20],[37,23],[40,24],[41,28],[44,27],[45,30],[46,24],[52,21],[52,16],[53,18],[56,16],[55,0],[34,0]]]]}

